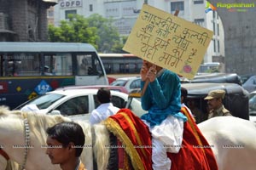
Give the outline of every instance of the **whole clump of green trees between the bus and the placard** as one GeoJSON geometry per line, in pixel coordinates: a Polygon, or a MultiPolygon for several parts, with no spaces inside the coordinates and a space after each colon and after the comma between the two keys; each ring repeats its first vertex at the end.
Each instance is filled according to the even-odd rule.
{"type": "MultiPolygon", "coordinates": [[[[127,37],[126,37],[127,38],[127,37]]],[[[100,53],[124,53],[124,37],[119,37],[113,20],[92,14],[88,18],[69,14],[59,27],[49,25],[50,42],[86,42],[100,53]]]]}

